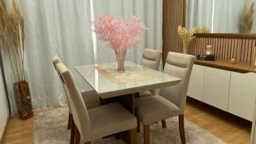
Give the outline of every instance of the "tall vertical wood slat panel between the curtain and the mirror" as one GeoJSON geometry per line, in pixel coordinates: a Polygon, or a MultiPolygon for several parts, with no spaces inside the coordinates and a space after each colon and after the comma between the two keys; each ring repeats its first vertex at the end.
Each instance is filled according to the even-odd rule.
{"type": "Polygon", "coordinates": [[[184,7],[186,7],[186,0],[163,0],[163,64],[165,64],[168,52],[183,52],[177,28],[179,25],[185,26],[184,7]]]}

